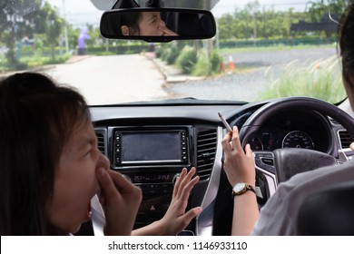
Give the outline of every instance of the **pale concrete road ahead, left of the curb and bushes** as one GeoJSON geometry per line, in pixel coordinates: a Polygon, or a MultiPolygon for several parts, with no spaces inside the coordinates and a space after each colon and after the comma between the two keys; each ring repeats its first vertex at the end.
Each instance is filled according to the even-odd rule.
{"type": "Polygon", "coordinates": [[[164,78],[139,54],[89,56],[72,64],[57,64],[44,73],[76,87],[90,105],[162,99],[164,78]]]}

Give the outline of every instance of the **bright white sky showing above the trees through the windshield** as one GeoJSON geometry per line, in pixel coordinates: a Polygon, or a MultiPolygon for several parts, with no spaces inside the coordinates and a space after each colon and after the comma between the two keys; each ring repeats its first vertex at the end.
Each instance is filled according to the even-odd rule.
{"type": "MultiPolygon", "coordinates": [[[[192,0],[191,0],[192,1],[192,0]]],[[[305,10],[309,0],[258,0],[266,8],[274,7],[276,10],[287,10],[290,6],[299,11],[305,10]]],[[[99,24],[103,11],[97,10],[90,0],[47,0],[51,5],[58,7],[61,15],[64,15],[70,24],[84,26],[84,24],[99,24]],[[64,5],[63,5],[64,3],[64,5]],[[63,8],[64,6],[64,8],[63,8]],[[79,10],[79,11],[78,11],[79,10]]],[[[213,15],[219,17],[226,13],[233,13],[234,9],[243,8],[250,0],[220,0],[211,10],[213,15]]]]}

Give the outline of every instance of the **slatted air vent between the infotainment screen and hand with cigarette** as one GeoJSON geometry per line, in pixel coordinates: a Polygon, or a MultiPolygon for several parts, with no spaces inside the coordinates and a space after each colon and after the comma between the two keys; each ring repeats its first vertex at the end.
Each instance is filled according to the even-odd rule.
{"type": "Polygon", "coordinates": [[[197,171],[201,180],[207,180],[211,176],[212,166],[215,160],[217,146],[216,130],[198,133],[197,141],[197,171]]]}

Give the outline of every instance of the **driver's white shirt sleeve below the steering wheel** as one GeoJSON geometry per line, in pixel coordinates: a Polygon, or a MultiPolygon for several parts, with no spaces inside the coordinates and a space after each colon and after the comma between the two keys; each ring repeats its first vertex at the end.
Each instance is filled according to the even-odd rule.
{"type": "Polygon", "coordinates": [[[280,183],[274,195],[261,209],[251,235],[297,235],[297,217],[300,205],[311,193],[330,184],[354,179],[354,160],[344,164],[306,171],[280,183]]]}

